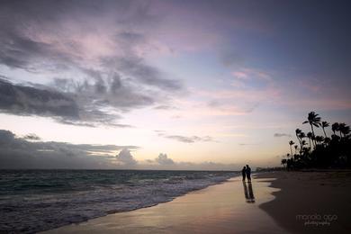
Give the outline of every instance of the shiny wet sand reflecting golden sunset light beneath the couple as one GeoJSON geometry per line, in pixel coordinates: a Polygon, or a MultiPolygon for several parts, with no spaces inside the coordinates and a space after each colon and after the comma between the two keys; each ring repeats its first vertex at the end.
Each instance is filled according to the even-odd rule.
{"type": "Polygon", "coordinates": [[[278,189],[269,180],[251,186],[234,177],[223,184],[187,193],[136,211],[110,214],[46,233],[287,233],[258,208],[278,189]]]}

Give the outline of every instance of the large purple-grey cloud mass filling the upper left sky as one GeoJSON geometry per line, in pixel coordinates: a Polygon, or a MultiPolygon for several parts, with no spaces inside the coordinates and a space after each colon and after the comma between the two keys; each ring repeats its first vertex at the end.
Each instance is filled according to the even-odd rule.
{"type": "Polygon", "coordinates": [[[24,90],[25,97],[30,97],[27,102],[19,100],[18,92],[8,94],[2,89],[0,95],[7,97],[1,100],[4,112],[59,117],[60,122],[82,126],[108,122],[128,127],[113,122],[121,112],[163,103],[182,90],[179,80],[148,65],[138,52],[149,41],[134,23],[147,29],[156,22],[148,13],[148,4],[34,3],[0,4],[0,65],[29,71],[31,76],[47,71],[55,75],[48,76],[41,87],[11,85],[24,90]],[[31,102],[33,98],[38,99],[36,103],[31,102]],[[52,102],[45,103],[48,99],[52,102]],[[58,106],[52,106],[55,103],[58,106]]]}

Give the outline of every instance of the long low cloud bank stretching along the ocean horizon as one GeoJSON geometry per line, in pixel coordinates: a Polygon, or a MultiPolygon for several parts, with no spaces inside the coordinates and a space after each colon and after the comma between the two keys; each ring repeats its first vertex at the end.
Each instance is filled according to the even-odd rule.
{"type": "Polygon", "coordinates": [[[69,144],[40,141],[35,134],[30,135],[29,138],[20,138],[10,130],[0,130],[0,168],[162,170],[236,170],[239,168],[234,164],[214,162],[175,162],[163,153],[153,160],[138,161],[130,153],[130,150],[139,149],[137,146],[69,144]],[[32,138],[36,140],[33,141],[32,138]],[[116,151],[120,152],[114,156],[116,151]]]}

